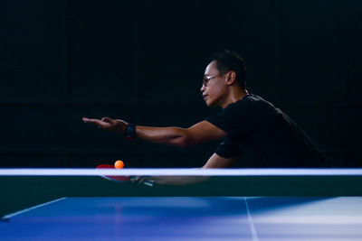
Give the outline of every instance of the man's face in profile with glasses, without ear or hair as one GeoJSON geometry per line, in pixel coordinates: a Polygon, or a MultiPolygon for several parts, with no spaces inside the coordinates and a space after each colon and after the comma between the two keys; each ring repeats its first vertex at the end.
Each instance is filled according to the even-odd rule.
{"type": "Polygon", "coordinates": [[[212,61],[205,69],[204,82],[201,88],[207,107],[221,107],[226,96],[225,77],[220,75],[216,62],[212,61]]]}

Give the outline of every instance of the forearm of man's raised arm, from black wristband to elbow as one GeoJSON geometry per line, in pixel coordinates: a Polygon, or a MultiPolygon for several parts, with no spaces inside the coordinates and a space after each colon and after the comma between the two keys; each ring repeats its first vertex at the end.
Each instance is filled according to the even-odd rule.
{"type": "Polygon", "coordinates": [[[187,131],[180,127],[148,127],[137,125],[138,138],[157,144],[185,147],[189,144],[187,131]]]}

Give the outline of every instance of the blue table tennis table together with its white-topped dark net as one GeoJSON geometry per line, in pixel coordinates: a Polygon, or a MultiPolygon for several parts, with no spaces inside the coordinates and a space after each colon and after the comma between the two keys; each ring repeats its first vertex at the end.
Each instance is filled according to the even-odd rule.
{"type": "Polygon", "coordinates": [[[362,169],[0,169],[0,184],[0,240],[362,240],[362,169]]]}

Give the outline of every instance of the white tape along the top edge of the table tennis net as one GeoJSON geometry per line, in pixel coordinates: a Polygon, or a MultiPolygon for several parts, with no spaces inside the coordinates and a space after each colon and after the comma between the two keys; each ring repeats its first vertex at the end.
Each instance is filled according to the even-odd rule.
{"type": "Polygon", "coordinates": [[[258,168],[258,169],[70,169],[70,168],[3,168],[1,176],[362,176],[362,168],[310,169],[310,168],[258,168]]]}

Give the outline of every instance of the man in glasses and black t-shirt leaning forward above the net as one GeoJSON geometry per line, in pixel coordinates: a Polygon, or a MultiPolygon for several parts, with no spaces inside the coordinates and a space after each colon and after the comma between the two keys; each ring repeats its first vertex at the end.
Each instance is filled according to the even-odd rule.
{"type": "Polygon", "coordinates": [[[207,107],[223,109],[189,128],[130,125],[109,117],[83,121],[130,138],[181,147],[224,138],[203,168],[321,166],[324,159],[307,134],[280,109],[248,93],[245,72],[243,59],[232,51],[214,54],[201,92],[207,107]]]}

